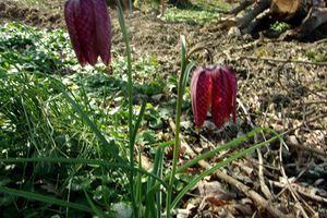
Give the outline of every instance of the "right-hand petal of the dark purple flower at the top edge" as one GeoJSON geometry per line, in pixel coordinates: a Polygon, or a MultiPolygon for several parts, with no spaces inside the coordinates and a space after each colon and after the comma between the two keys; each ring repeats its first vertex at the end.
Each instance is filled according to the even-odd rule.
{"type": "Polygon", "coordinates": [[[96,48],[106,65],[110,62],[111,22],[105,0],[93,0],[96,22],[96,48]]]}

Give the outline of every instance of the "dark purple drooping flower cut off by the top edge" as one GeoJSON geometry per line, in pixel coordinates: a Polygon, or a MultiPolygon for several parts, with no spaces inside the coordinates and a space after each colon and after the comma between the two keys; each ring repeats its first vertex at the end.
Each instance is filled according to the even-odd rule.
{"type": "Polygon", "coordinates": [[[82,65],[101,57],[110,62],[111,22],[105,0],[68,0],[64,19],[73,49],[82,65]]]}

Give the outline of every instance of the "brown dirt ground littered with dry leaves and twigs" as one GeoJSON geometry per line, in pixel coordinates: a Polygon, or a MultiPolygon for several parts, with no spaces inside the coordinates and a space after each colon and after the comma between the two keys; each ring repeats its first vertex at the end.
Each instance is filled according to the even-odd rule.
{"type": "MultiPolygon", "coordinates": [[[[15,20],[46,28],[64,27],[63,1],[49,2],[41,8],[28,8],[15,1],[2,1],[0,22],[15,20]]],[[[123,53],[124,46],[114,11],[111,11],[111,19],[113,53],[123,53]]],[[[265,185],[257,179],[258,166],[264,166],[266,185],[274,192],[270,193],[271,205],[293,217],[304,216],[303,210],[308,217],[327,217],[327,64],[326,60],[314,62],[307,55],[326,58],[326,40],[281,41],[262,36],[255,39],[232,31],[213,32],[208,26],[166,23],[137,11],[126,16],[126,24],[134,58],[156,56],[161,65],[158,73],[179,72],[182,34],[186,36],[189,50],[207,48],[215,63],[234,68],[239,81],[237,130],[231,125],[230,130],[221,132],[211,129],[208,122],[202,137],[187,136],[185,132],[186,143],[197,146],[196,149],[202,152],[214,147],[216,143],[249,132],[253,126],[289,131],[283,145],[274,144],[262,154],[238,161],[226,170],[267,197],[262,191],[265,185]],[[264,160],[259,160],[261,155],[264,160]]],[[[205,49],[199,50],[191,58],[202,60],[205,64],[208,53],[205,49]]],[[[202,184],[213,184],[213,181],[210,178],[202,184]]],[[[246,217],[253,215],[253,208],[258,207],[233,189],[228,194],[220,193],[229,196],[228,204],[225,201],[217,203],[217,199],[202,194],[201,201],[198,197],[185,199],[184,210],[179,213],[191,213],[195,217],[206,217],[210,213],[213,217],[223,213],[246,217]]]]}

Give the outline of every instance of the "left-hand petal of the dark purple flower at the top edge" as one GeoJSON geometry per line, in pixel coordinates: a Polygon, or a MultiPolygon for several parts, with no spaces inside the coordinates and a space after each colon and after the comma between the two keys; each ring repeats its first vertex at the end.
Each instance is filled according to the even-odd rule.
{"type": "Polygon", "coordinates": [[[72,41],[73,49],[75,51],[75,55],[78,59],[78,62],[81,65],[85,65],[87,60],[86,57],[82,50],[82,46],[80,43],[77,29],[75,26],[76,23],[76,14],[75,10],[80,7],[78,0],[69,0],[64,4],[64,20],[66,23],[68,32],[72,41]]]}

